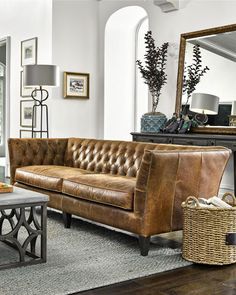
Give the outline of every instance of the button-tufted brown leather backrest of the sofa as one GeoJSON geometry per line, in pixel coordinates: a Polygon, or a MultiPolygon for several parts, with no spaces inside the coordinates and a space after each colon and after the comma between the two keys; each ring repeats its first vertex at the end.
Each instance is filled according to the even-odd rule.
{"type": "Polygon", "coordinates": [[[200,147],[69,138],[65,156],[65,165],[97,173],[110,173],[136,177],[145,149],[196,150],[200,149],[200,147]]]}

